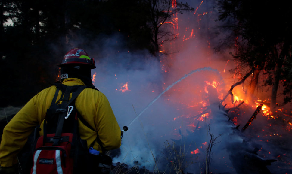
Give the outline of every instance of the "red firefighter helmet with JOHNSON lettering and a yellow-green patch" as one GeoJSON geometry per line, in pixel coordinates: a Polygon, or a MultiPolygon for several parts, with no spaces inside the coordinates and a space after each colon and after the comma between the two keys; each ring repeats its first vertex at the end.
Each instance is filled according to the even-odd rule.
{"type": "Polygon", "coordinates": [[[89,57],[85,50],[79,48],[73,48],[68,51],[62,63],[58,64],[58,66],[62,67],[67,64],[87,64],[90,69],[96,68],[94,58],[89,57]]]}

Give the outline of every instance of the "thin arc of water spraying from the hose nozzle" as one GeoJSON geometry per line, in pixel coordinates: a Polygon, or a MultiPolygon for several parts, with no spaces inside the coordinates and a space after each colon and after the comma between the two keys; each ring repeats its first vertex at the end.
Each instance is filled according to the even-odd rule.
{"type": "Polygon", "coordinates": [[[151,101],[145,108],[144,110],[141,111],[141,113],[139,113],[135,119],[132,120],[132,122],[129,123],[128,126],[130,126],[136,119],[138,119],[139,116],[141,116],[142,113],[144,113],[144,111],[150,107],[158,98],[160,98],[161,95],[163,95],[166,91],[168,91],[170,88],[172,88],[174,85],[176,85],[178,82],[182,81],[183,79],[187,78],[188,76],[190,76],[191,74],[195,73],[195,72],[200,72],[200,71],[204,71],[204,70],[207,70],[207,71],[213,71],[213,72],[216,72],[219,74],[218,70],[216,69],[213,69],[211,67],[204,67],[204,68],[198,68],[196,70],[193,70],[191,71],[190,73],[186,74],[185,76],[183,76],[182,78],[180,78],[179,80],[177,80],[176,82],[172,83],[171,85],[169,85],[162,93],[160,93],[156,98],[154,98],[153,101],[151,101]]]}

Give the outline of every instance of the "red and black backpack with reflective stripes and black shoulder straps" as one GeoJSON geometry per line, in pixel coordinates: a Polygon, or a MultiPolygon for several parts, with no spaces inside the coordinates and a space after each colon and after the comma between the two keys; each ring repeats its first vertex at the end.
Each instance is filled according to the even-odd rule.
{"type": "MultiPolygon", "coordinates": [[[[45,116],[44,135],[36,142],[30,173],[91,173],[94,170],[93,166],[89,166],[92,165],[92,161],[95,163],[94,167],[99,163],[103,163],[104,166],[103,168],[96,167],[95,172],[100,170],[101,173],[109,173],[111,158],[104,154],[89,153],[87,142],[80,138],[78,131],[78,118],[84,125],[94,130],[75,107],[75,99],[80,92],[85,88],[94,87],[66,86],[61,83],[54,85],[57,86],[57,91],[45,116]],[[62,91],[61,99],[56,102],[60,90],[62,91]],[[70,93],[72,93],[72,98],[69,100],[70,93]]],[[[101,145],[98,136],[96,141],[101,145]]],[[[102,149],[104,151],[104,148],[102,149]]]]}

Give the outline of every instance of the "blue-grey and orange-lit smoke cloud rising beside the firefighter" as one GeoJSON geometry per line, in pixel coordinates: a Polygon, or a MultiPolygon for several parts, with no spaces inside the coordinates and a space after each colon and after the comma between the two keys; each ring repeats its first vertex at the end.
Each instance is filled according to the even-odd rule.
{"type": "MultiPolygon", "coordinates": [[[[200,3],[192,1],[190,5],[196,8],[200,3]]],[[[158,167],[166,171],[171,168],[170,161],[182,162],[170,160],[178,155],[188,166],[184,172],[201,173],[206,165],[210,133],[213,138],[218,137],[212,148],[213,156],[207,157],[212,158],[210,166],[214,173],[238,173],[233,168],[236,165],[234,162],[246,162],[242,155],[247,152],[246,157],[249,159],[259,159],[259,155],[252,151],[260,146],[248,143],[252,141],[229,120],[228,116],[231,117],[232,113],[227,114],[223,106],[219,105],[219,98],[222,98],[220,95],[225,95],[234,83],[228,72],[234,68],[234,62],[228,53],[214,54],[212,44],[208,43],[210,40],[216,41],[216,38],[205,37],[208,28],[214,27],[211,17],[214,12],[210,13],[203,5],[196,15],[186,13],[178,16],[179,38],[163,47],[175,51],[168,56],[161,56],[161,62],[146,50],[128,50],[123,42],[125,38],[119,34],[101,34],[92,41],[90,48],[84,48],[95,58],[97,68],[92,70],[92,75],[95,75],[93,83],[107,96],[121,129],[124,125],[128,126],[169,85],[194,70],[210,67],[192,73],[157,98],[124,133],[120,155],[113,158],[114,163],[125,163],[130,167],[145,166],[151,171],[158,167]],[[203,12],[209,14],[203,15],[203,12]],[[212,87],[213,82],[216,82],[216,88],[212,87]]],[[[83,42],[86,42],[85,37],[76,36],[75,41],[70,41],[70,48],[83,48],[83,42]]],[[[241,90],[241,86],[236,88],[241,90]]],[[[253,110],[244,108],[243,112],[245,117],[241,121],[246,123],[253,110]]],[[[266,118],[259,119],[265,121],[256,120],[253,124],[268,124],[266,118]]],[[[262,127],[259,125],[258,129],[262,127]]],[[[247,134],[254,134],[253,131],[247,134]]],[[[257,135],[262,137],[262,134],[257,135]]],[[[260,153],[262,156],[266,149],[273,147],[266,144],[263,146],[264,150],[260,153]]],[[[272,155],[266,154],[268,157],[278,154],[274,152],[272,155]]]]}

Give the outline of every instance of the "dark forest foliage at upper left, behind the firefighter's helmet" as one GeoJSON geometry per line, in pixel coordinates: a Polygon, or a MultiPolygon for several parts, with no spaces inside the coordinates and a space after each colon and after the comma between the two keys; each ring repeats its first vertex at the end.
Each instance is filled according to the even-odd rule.
{"type": "MultiPolygon", "coordinates": [[[[153,25],[167,22],[173,13],[165,4],[169,7],[171,0],[0,1],[0,106],[25,104],[58,80],[56,65],[70,48],[98,52],[96,47],[104,44],[97,40],[100,35],[119,33],[124,49],[155,54],[162,38],[153,25]],[[166,11],[151,11],[151,3],[166,11]],[[153,23],[154,18],[163,21],[153,23]]],[[[178,3],[177,12],[189,9],[178,3]]]]}

